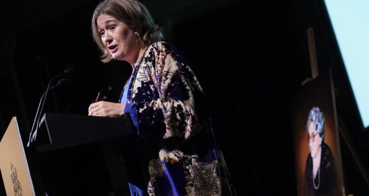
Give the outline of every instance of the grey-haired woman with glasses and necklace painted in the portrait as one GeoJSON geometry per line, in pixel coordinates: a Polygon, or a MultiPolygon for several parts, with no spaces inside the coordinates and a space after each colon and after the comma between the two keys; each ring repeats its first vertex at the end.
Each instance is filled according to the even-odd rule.
{"type": "Polygon", "coordinates": [[[331,149],[324,143],[324,116],[318,107],[310,110],[307,119],[307,142],[310,153],[305,167],[306,194],[335,195],[335,163],[331,149]]]}

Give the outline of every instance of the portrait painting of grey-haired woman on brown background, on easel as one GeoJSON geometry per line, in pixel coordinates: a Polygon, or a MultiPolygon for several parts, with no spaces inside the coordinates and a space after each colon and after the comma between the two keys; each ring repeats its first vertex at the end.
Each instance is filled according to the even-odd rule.
{"type": "Polygon", "coordinates": [[[291,106],[298,195],[344,195],[331,72],[307,83],[291,106]]]}

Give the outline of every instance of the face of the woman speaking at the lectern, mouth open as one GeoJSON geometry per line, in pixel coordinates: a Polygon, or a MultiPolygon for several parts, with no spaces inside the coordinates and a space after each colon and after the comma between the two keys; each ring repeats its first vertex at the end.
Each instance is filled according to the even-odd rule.
{"type": "Polygon", "coordinates": [[[98,16],[96,22],[101,41],[113,58],[134,63],[140,49],[138,36],[134,31],[125,23],[107,14],[98,16]]]}

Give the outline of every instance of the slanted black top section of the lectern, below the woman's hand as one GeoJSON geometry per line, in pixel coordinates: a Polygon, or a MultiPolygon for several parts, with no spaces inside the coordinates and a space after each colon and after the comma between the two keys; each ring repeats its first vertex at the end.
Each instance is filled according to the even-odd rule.
{"type": "Polygon", "coordinates": [[[45,113],[36,136],[37,152],[134,134],[129,119],[45,113]]]}

